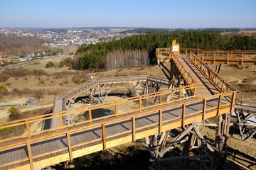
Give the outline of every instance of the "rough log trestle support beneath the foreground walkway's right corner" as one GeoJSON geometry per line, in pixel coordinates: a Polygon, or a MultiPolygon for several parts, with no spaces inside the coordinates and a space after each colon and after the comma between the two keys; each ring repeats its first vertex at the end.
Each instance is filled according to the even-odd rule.
{"type": "MultiPolygon", "coordinates": [[[[169,131],[161,132],[161,134],[152,137],[145,137],[145,144],[143,145],[148,148],[152,157],[150,169],[164,169],[160,162],[174,160],[179,160],[175,165],[179,169],[188,169],[191,161],[198,162],[200,169],[222,169],[227,159],[230,114],[219,115],[218,120],[215,143],[210,143],[201,134],[198,125],[204,125],[204,123],[198,123],[198,125],[192,123],[171,142],[168,140],[169,131]],[[164,157],[166,152],[176,147],[182,148],[180,156],[164,157]]],[[[213,125],[210,124],[209,126],[213,125]]]]}

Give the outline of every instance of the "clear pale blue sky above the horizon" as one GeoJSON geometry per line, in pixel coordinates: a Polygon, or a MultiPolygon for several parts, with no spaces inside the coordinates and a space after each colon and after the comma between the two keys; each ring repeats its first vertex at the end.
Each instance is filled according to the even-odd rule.
{"type": "Polygon", "coordinates": [[[256,28],[256,0],[0,0],[0,27],[256,28]]]}

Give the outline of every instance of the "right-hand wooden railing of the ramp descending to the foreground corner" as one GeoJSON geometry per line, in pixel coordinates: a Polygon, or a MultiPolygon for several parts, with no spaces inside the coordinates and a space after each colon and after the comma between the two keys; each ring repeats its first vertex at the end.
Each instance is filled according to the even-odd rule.
{"type": "Polygon", "coordinates": [[[206,63],[204,63],[199,57],[197,57],[193,53],[190,54],[190,60],[191,62],[193,62],[193,64],[196,65],[196,67],[198,67],[199,70],[201,70],[201,72],[203,72],[203,74],[206,75],[206,77],[208,77],[208,79],[210,79],[210,81],[213,82],[213,84],[215,84],[216,87],[218,87],[221,92],[225,93],[230,91],[237,91],[235,87],[233,87],[231,84],[225,81],[225,79],[220,77],[219,74],[213,71],[213,69],[211,69],[206,63]]]}

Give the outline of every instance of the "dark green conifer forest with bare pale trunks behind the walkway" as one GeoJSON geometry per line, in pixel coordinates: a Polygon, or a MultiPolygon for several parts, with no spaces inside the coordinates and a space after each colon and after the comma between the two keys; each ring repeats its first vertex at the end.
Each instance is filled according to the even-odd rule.
{"type": "Polygon", "coordinates": [[[171,47],[171,42],[174,39],[176,39],[181,47],[185,48],[200,48],[202,50],[256,50],[256,39],[250,36],[233,35],[230,37],[220,33],[188,30],[179,33],[132,35],[120,40],[90,45],[84,44],[78,48],[73,64],[75,69],[115,69],[121,65],[122,67],[137,67],[138,65],[139,67],[146,67],[149,64],[156,64],[156,48],[171,47]],[[136,54],[137,57],[125,55],[128,51],[131,54],[136,54]],[[146,57],[146,59],[142,60],[138,56],[146,57]],[[122,57],[126,59],[124,60],[122,57]],[[109,62],[111,61],[116,66],[113,66],[113,63],[110,64],[109,62]],[[121,62],[124,63],[121,64],[121,62]],[[131,66],[130,64],[125,64],[126,62],[137,63],[137,65],[131,66]],[[109,64],[112,66],[108,66],[109,64]]]}

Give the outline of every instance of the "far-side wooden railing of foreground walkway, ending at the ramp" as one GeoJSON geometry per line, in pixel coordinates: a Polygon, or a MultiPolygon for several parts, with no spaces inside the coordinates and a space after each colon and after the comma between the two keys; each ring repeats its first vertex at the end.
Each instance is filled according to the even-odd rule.
{"type": "Polygon", "coordinates": [[[196,89],[197,89],[197,85],[194,84],[191,86],[184,86],[181,88],[171,89],[168,91],[160,91],[160,92],[156,92],[156,93],[152,93],[152,94],[145,94],[142,96],[137,96],[137,97],[132,97],[132,98],[124,98],[119,101],[112,101],[112,102],[102,103],[102,104],[98,104],[98,105],[94,105],[94,106],[87,106],[87,108],[70,109],[68,111],[63,111],[63,112],[59,112],[59,113],[50,113],[48,115],[40,115],[40,116],[36,116],[33,118],[11,121],[11,122],[4,123],[4,124],[0,125],[0,130],[6,129],[6,128],[17,127],[18,129],[26,129],[26,133],[23,135],[18,135],[16,137],[9,137],[7,139],[2,139],[2,140],[0,140],[0,143],[6,142],[9,140],[16,140],[16,139],[23,138],[23,137],[32,137],[34,135],[38,135],[43,132],[62,130],[63,128],[68,128],[68,127],[72,127],[75,125],[81,125],[81,124],[85,124],[85,123],[93,123],[96,120],[103,120],[105,118],[116,117],[118,115],[124,115],[127,113],[132,113],[134,111],[142,111],[144,109],[153,108],[155,106],[163,106],[168,103],[174,103],[176,101],[183,101],[188,98],[195,98],[196,93],[194,93],[193,96],[183,96],[183,91],[187,91],[187,90],[196,91],[196,89]],[[176,95],[175,99],[172,101],[169,101],[169,102],[164,102],[164,99],[167,98],[167,96],[169,96],[171,94],[174,96],[176,95]],[[149,101],[151,101],[151,98],[159,98],[158,103],[150,103],[149,101]],[[121,107],[129,108],[126,105],[129,105],[130,103],[134,103],[133,104],[134,108],[130,108],[129,111],[121,111],[121,107]],[[100,109],[100,108],[107,109],[107,111],[110,111],[111,114],[110,115],[102,115],[99,118],[97,118],[98,117],[97,109],[100,109]],[[93,113],[93,112],[95,112],[95,113],[93,113]],[[80,122],[77,122],[77,123],[74,123],[71,125],[63,125],[63,118],[65,118],[65,116],[68,116],[71,114],[73,114],[74,116],[81,115],[81,114],[86,115],[87,120],[82,120],[80,122]],[[32,123],[43,123],[43,121],[50,120],[53,118],[59,119],[60,127],[49,129],[49,130],[43,130],[43,131],[39,131],[39,132],[31,132],[31,124],[32,123]],[[24,128],[24,126],[26,128],[24,128]]]}

